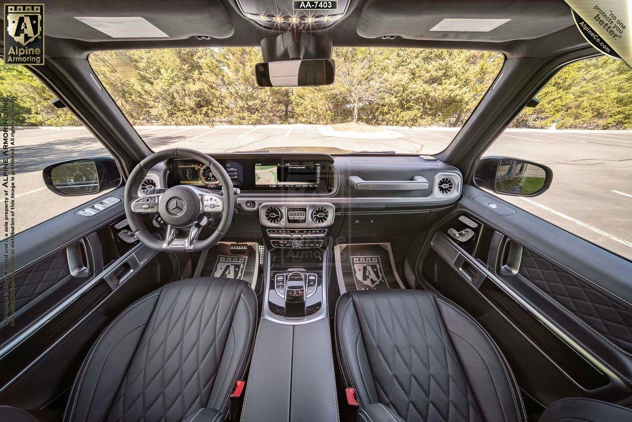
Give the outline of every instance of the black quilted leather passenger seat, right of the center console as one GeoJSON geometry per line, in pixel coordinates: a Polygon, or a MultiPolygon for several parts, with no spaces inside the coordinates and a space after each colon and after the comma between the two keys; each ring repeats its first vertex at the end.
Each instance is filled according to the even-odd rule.
{"type": "Polygon", "coordinates": [[[358,421],[526,421],[501,351],[451,301],[422,290],[351,292],[335,322],[358,421]]]}

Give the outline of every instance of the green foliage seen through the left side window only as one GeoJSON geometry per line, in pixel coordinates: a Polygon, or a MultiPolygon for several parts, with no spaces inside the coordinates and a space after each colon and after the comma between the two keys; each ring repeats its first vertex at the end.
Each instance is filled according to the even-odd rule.
{"type": "Polygon", "coordinates": [[[77,126],[79,121],[67,109],[56,109],[55,99],[24,66],[0,64],[0,95],[15,97],[16,126],[77,126]]]}

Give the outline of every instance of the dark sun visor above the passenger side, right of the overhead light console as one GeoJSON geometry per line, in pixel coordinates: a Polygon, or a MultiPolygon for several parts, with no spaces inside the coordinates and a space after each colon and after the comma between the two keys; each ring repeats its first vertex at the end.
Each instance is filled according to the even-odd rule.
{"type": "Polygon", "coordinates": [[[534,39],[572,25],[571,9],[562,0],[369,0],[358,21],[358,35],[504,42],[534,39]]]}

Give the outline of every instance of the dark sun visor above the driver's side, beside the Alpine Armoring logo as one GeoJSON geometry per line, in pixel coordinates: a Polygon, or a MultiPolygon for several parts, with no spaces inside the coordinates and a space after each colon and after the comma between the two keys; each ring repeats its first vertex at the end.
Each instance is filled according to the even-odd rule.
{"type": "Polygon", "coordinates": [[[73,0],[46,4],[46,35],[83,41],[228,38],[233,24],[219,0],[73,0]]]}

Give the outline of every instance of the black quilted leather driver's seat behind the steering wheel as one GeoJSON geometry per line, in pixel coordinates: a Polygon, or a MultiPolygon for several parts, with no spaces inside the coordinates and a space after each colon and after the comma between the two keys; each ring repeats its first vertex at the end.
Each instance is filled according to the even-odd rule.
{"type": "Polygon", "coordinates": [[[139,299],[100,335],[64,421],[182,421],[226,412],[250,356],[257,299],[248,283],[200,277],[139,299]]]}

